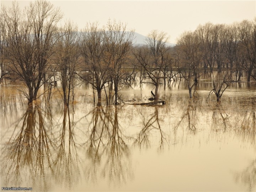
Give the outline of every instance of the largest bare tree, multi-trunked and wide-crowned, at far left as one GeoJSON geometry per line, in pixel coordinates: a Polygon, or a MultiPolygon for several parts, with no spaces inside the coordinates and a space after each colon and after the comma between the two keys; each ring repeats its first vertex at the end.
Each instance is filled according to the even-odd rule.
{"type": "Polygon", "coordinates": [[[32,103],[46,78],[47,61],[52,53],[56,25],[62,18],[50,2],[35,1],[21,12],[18,4],[3,13],[7,23],[7,41],[11,68],[25,82],[23,91],[32,103]]]}

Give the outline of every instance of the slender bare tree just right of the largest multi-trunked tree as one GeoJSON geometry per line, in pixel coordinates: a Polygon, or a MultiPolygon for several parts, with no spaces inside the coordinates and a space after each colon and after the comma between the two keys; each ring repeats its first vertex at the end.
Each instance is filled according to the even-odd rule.
{"type": "MultiPolygon", "coordinates": [[[[79,64],[79,34],[78,27],[71,21],[65,22],[60,28],[58,39],[54,46],[53,60],[60,72],[59,80],[62,84],[62,97],[65,106],[69,106],[70,92],[74,89],[75,71],[79,64]]],[[[74,100],[74,95],[73,95],[74,100]]]]}

